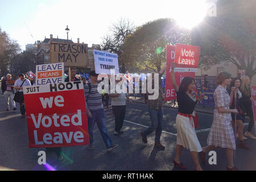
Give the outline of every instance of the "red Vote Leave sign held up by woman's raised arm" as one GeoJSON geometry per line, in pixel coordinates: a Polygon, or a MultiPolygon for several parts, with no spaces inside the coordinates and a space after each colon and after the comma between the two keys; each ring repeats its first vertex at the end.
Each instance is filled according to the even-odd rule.
{"type": "Polygon", "coordinates": [[[175,72],[197,72],[200,47],[177,44],[175,51],[175,72]]]}

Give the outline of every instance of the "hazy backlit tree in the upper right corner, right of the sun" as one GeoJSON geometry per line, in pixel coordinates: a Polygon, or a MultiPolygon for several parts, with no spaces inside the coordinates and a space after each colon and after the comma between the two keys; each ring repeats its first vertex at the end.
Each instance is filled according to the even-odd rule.
{"type": "Polygon", "coordinates": [[[201,47],[200,64],[209,69],[220,63],[233,63],[246,69],[246,75],[256,74],[255,1],[217,2],[217,17],[206,18],[192,34],[192,44],[201,47]]]}

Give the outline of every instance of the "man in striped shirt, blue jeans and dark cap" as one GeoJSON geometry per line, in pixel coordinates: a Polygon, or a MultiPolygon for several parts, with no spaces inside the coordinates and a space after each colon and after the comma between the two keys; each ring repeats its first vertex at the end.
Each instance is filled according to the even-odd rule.
{"type": "Polygon", "coordinates": [[[108,148],[108,151],[113,150],[118,144],[112,143],[106,129],[106,118],[102,104],[102,94],[98,92],[98,74],[95,71],[90,72],[90,83],[84,86],[86,112],[88,118],[88,131],[89,131],[89,150],[94,150],[93,147],[93,127],[97,122],[98,129],[101,136],[108,148]]]}

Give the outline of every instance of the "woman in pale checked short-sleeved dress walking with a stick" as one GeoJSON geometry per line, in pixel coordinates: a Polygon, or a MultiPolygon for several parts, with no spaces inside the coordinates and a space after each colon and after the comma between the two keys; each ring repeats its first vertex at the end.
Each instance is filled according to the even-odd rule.
{"type": "Polygon", "coordinates": [[[237,109],[229,109],[230,96],[226,91],[226,86],[230,85],[231,75],[227,72],[221,72],[217,77],[217,88],[214,92],[214,102],[216,109],[214,110],[214,118],[210,129],[207,147],[203,148],[200,153],[200,159],[205,163],[205,154],[209,150],[217,147],[226,149],[226,158],[228,159],[227,171],[237,171],[233,163],[233,154],[236,150],[236,140],[232,127],[231,113],[238,114],[237,109]]]}

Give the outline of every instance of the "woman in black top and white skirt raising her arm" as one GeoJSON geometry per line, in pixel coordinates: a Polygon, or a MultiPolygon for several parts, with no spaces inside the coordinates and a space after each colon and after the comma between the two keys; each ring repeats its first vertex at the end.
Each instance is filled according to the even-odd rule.
{"type": "Polygon", "coordinates": [[[202,171],[198,159],[198,152],[202,151],[199,140],[197,139],[195,125],[193,121],[193,111],[198,100],[202,100],[204,95],[202,94],[198,100],[196,100],[196,94],[193,92],[196,88],[195,79],[191,77],[183,78],[180,87],[176,84],[174,68],[176,64],[172,64],[171,82],[177,94],[177,103],[179,106],[179,114],[176,118],[177,126],[177,146],[176,155],[174,158],[174,165],[179,166],[181,169],[187,169],[180,163],[180,154],[184,148],[190,150],[193,162],[196,164],[196,170],[202,171]]]}

